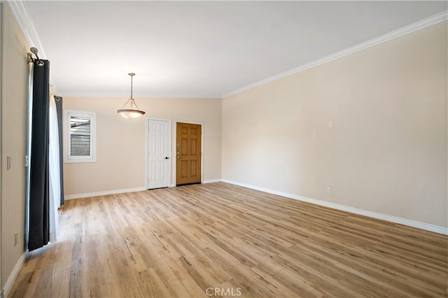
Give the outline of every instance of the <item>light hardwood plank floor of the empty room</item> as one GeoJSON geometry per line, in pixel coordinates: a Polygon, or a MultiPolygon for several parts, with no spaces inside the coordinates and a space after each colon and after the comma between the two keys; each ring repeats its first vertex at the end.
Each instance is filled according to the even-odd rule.
{"type": "Polygon", "coordinates": [[[12,297],[447,297],[447,236],[225,183],[67,201],[60,227],[12,297]]]}

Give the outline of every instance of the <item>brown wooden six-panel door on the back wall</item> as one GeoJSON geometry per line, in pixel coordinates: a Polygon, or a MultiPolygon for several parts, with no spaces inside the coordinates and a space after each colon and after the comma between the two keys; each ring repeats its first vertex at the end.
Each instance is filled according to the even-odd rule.
{"type": "Polygon", "coordinates": [[[201,125],[177,123],[176,185],[201,183],[201,125]]]}

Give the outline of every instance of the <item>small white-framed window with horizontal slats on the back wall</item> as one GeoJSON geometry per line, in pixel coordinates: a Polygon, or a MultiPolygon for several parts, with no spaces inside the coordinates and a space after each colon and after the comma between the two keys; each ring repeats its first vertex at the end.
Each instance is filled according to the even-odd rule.
{"type": "Polygon", "coordinates": [[[96,162],[97,113],[64,112],[64,162],[96,162]]]}

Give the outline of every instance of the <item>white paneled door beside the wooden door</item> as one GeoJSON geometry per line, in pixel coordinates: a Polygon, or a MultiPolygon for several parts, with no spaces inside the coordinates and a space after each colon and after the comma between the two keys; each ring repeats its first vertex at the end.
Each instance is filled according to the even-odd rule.
{"type": "Polygon", "coordinates": [[[148,189],[170,185],[171,121],[148,119],[148,189]]]}

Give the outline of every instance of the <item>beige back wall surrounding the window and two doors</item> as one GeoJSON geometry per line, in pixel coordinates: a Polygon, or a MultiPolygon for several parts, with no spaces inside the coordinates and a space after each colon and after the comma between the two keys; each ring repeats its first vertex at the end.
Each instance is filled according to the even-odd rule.
{"type": "Polygon", "coordinates": [[[64,164],[66,195],[145,187],[146,118],[172,120],[172,152],[176,120],[202,123],[204,180],[221,178],[221,99],[134,98],[146,114],[130,120],[117,113],[126,97],[64,97],[64,109],[97,112],[97,162],[64,164]]]}

